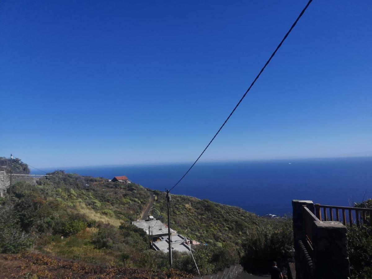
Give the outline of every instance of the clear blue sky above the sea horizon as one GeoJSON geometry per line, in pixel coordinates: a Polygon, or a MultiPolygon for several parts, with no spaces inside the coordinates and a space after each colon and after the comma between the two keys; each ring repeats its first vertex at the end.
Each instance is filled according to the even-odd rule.
{"type": "MultiPolygon", "coordinates": [[[[192,161],[307,1],[0,4],[0,155],[192,161]]],[[[314,0],[202,161],[372,150],[372,3],[314,0]]]]}

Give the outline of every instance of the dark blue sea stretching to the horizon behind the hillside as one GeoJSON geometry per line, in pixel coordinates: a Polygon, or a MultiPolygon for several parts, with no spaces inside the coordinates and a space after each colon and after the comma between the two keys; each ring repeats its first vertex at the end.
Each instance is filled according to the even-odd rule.
{"type": "MultiPolygon", "coordinates": [[[[144,187],[165,190],[189,167],[190,163],[62,169],[108,179],[126,175],[144,187]]],[[[33,170],[32,174],[43,173],[33,170]]],[[[258,215],[284,215],[291,214],[292,199],[349,206],[363,196],[372,198],[371,191],[372,157],[349,157],[197,163],[172,192],[239,206],[258,215]]]]}

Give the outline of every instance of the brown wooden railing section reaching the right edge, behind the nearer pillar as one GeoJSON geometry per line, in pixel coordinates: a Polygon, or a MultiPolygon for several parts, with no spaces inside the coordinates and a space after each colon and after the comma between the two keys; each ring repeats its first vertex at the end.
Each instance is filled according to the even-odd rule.
{"type": "Polygon", "coordinates": [[[339,221],[342,222],[344,225],[349,223],[350,226],[353,226],[354,224],[356,224],[357,226],[359,226],[360,224],[372,225],[371,208],[320,205],[319,203],[316,203],[314,206],[315,214],[320,221],[339,221]],[[329,215],[327,215],[327,211],[329,215]]]}

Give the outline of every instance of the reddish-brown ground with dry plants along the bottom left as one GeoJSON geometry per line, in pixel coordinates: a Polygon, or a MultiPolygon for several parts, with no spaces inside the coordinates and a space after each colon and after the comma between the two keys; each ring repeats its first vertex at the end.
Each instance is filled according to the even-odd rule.
{"type": "Polygon", "coordinates": [[[0,254],[1,278],[192,278],[185,272],[102,267],[43,254],[0,254]]]}

